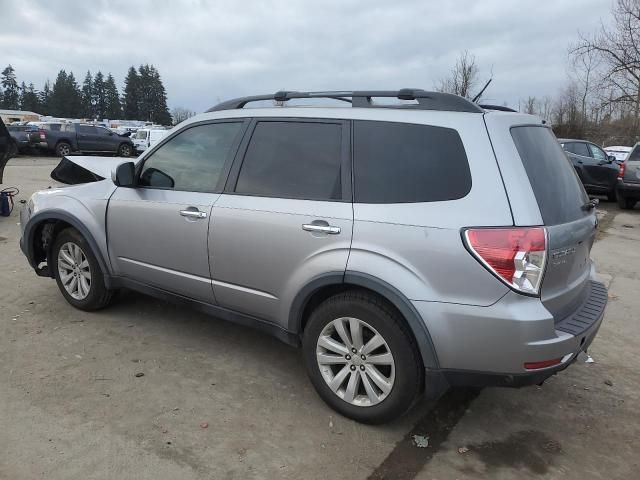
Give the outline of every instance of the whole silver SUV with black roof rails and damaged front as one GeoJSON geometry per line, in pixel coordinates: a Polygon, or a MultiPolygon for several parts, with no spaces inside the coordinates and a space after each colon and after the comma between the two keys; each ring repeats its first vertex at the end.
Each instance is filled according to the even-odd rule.
{"type": "Polygon", "coordinates": [[[539,384],[602,321],[595,205],[537,117],[423,90],[278,92],[121,161],[63,159],[54,177],[85,183],[33,195],[36,272],[83,310],[129,288],[301,345],[358,421],[442,386],[539,384]],[[312,106],[245,108],[292,99],[312,106]]]}

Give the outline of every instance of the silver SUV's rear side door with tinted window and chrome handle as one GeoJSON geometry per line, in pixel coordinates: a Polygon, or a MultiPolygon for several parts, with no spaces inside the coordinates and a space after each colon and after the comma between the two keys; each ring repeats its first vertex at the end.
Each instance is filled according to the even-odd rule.
{"type": "Polygon", "coordinates": [[[305,284],[347,265],[349,126],[259,119],[246,137],[213,208],[213,288],[222,306],[284,322],[305,284]]]}

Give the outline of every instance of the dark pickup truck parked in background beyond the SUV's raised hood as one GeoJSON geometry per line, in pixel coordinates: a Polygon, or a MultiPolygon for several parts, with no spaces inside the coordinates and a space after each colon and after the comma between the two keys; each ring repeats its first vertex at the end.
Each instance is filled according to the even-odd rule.
{"type": "Polygon", "coordinates": [[[72,152],[108,152],[121,157],[133,153],[133,142],[128,137],[118,135],[108,128],[82,123],[43,123],[40,131],[44,133],[48,151],[59,157],[72,152]]]}

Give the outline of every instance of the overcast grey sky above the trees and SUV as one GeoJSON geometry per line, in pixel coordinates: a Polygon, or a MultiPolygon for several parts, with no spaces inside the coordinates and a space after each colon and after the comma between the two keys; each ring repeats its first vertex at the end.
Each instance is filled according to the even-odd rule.
{"type": "Polygon", "coordinates": [[[567,81],[578,29],[608,21],[610,0],[216,2],[0,0],[0,68],[42,88],[60,68],[79,82],[154,64],[169,107],[288,90],[432,89],[462,50],[487,101],[511,106],[567,81]],[[483,80],[484,81],[484,80],[483,80]]]}

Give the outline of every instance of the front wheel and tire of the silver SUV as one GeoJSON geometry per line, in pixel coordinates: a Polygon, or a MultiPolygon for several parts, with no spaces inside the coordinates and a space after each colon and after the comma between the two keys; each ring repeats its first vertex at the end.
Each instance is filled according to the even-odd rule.
{"type": "Polygon", "coordinates": [[[56,236],[51,263],[58,288],[71,305],[86,311],[109,305],[115,292],[105,287],[104,272],[91,246],[75,228],[62,230],[56,236]],[[68,275],[73,276],[67,283],[65,277],[68,275]],[[72,285],[73,278],[76,279],[75,286],[72,285]]]}

